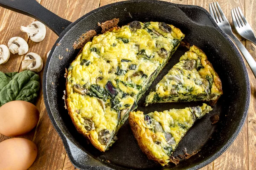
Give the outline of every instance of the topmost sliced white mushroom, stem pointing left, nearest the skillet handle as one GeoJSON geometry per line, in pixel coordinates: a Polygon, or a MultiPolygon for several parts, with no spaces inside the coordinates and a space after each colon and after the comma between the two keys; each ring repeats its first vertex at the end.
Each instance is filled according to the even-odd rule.
{"type": "Polygon", "coordinates": [[[34,42],[43,41],[46,34],[45,25],[39,21],[35,21],[26,27],[20,26],[20,31],[26,32],[28,37],[34,42]]]}

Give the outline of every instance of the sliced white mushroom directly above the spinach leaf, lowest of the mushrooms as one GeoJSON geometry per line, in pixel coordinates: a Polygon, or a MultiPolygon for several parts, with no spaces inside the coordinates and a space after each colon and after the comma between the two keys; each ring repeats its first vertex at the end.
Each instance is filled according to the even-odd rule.
{"type": "Polygon", "coordinates": [[[43,60],[38,54],[28,53],[22,61],[22,71],[30,70],[36,73],[40,72],[43,68],[43,60]]]}

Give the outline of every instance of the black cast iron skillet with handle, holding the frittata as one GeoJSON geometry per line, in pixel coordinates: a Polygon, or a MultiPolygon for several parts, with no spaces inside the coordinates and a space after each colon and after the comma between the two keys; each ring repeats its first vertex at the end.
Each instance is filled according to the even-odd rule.
{"type": "MultiPolygon", "coordinates": [[[[34,17],[59,35],[56,43],[61,45],[52,47],[44,69],[44,102],[49,118],[61,136],[71,162],[79,169],[198,169],[220,156],[236,139],[244,124],[250,99],[250,84],[244,62],[234,44],[204,8],[155,0],[131,0],[97,8],[76,22],[70,23],[48,11],[35,0],[26,0],[26,3],[23,3],[23,0],[0,0],[0,6],[34,17]],[[95,29],[99,34],[101,29],[97,23],[113,18],[120,19],[119,26],[134,20],[173,24],[186,34],[187,42],[197,45],[207,54],[221,78],[223,96],[213,106],[213,111],[198,120],[189,130],[174,155],[182,154],[184,150],[187,153],[200,151],[195,156],[181,161],[177,166],[170,164],[167,167],[161,167],[149,161],[140,151],[128,121],[119,130],[119,140],[111,149],[105,153],[99,152],[77,133],[67,110],[64,109],[62,96],[66,81],[65,68],[69,67],[79,52],[79,50],[73,50],[73,42],[90,29],[95,29]],[[70,49],[70,52],[67,52],[66,48],[70,49]],[[58,58],[59,54],[63,59],[58,58]],[[220,121],[211,125],[210,117],[215,114],[220,116],[220,121]]],[[[150,88],[153,88],[178,62],[185,51],[187,49],[178,48],[150,88]]],[[[192,102],[144,107],[142,105],[144,99],[140,100],[138,109],[145,113],[201,105],[201,102],[192,102]]]]}

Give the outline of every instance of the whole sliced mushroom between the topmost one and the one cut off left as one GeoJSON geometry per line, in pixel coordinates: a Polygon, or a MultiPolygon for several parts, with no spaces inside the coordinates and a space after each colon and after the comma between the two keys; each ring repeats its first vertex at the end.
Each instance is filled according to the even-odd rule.
{"type": "Polygon", "coordinates": [[[28,43],[20,37],[12,37],[8,42],[9,50],[12,54],[26,54],[29,51],[28,43]]]}

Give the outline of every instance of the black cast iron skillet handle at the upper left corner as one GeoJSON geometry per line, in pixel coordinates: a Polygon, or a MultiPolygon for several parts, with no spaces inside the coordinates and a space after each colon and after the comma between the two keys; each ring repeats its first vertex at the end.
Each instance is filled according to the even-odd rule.
{"type": "Polygon", "coordinates": [[[58,36],[71,24],[70,21],[41,6],[36,0],[0,0],[0,6],[41,21],[58,36]]]}

